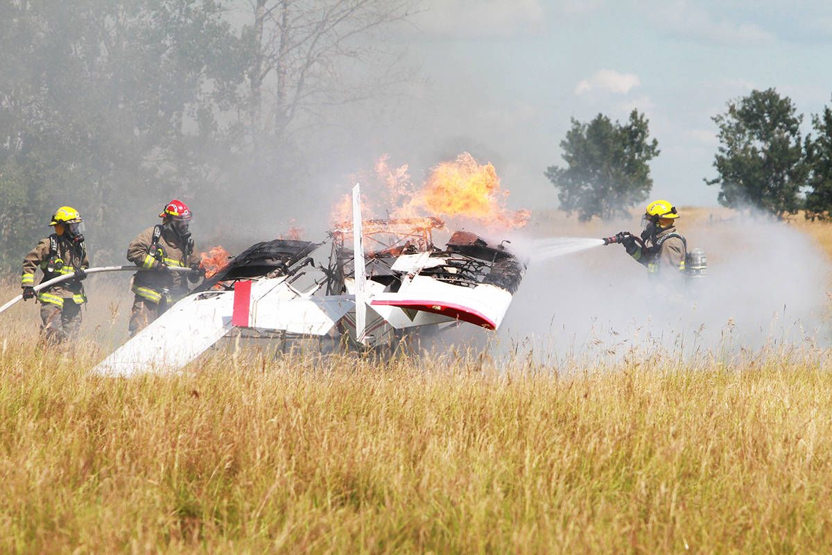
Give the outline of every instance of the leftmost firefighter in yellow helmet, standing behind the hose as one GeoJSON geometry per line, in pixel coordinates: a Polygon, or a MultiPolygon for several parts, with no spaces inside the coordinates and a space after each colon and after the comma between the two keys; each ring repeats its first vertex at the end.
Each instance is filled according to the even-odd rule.
{"type": "Polygon", "coordinates": [[[23,300],[37,296],[41,303],[41,332],[56,343],[77,333],[81,325],[81,305],[87,302],[81,281],[87,277],[84,270],[90,267],[87,247],[84,245],[84,224],[81,215],[72,206],[61,206],[49,222],[55,229],[52,235],[38,241],[23,259],[20,286],[23,300]],[[35,272],[40,268],[44,281],[60,275],[74,274],[71,280],[62,281],[35,293],[35,272]]]}

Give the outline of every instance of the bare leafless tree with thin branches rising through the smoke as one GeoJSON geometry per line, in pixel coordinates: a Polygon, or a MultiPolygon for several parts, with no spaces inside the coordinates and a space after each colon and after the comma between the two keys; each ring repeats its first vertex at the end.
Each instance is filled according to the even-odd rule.
{"type": "Polygon", "coordinates": [[[349,72],[399,63],[375,35],[414,15],[414,0],[255,0],[251,126],[282,136],[301,111],[360,102],[402,82],[347,84],[349,72]],[[264,115],[267,114],[267,115],[264,115]]]}

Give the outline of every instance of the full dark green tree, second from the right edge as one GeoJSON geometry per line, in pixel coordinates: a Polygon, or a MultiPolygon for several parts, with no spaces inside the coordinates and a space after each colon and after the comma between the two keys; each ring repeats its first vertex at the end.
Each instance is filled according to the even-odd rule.
{"type": "Polygon", "coordinates": [[[728,102],[728,111],[712,118],[720,130],[714,160],[719,176],[705,181],[721,186],[721,205],[753,206],[778,218],[800,210],[808,166],[800,135],[803,116],[795,112],[789,97],[770,88],[728,102]]]}

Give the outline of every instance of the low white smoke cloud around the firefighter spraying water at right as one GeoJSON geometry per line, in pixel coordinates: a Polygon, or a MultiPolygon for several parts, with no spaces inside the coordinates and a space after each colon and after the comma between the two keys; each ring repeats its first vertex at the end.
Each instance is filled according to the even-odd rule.
{"type": "MultiPolygon", "coordinates": [[[[656,285],[620,245],[532,260],[501,343],[557,357],[829,344],[830,264],[810,237],[783,222],[740,216],[696,225],[682,218],[678,230],[689,250],[700,247],[708,257],[708,275],[696,287],[656,285]]],[[[533,255],[541,244],[523,247],[533,255]]]]}

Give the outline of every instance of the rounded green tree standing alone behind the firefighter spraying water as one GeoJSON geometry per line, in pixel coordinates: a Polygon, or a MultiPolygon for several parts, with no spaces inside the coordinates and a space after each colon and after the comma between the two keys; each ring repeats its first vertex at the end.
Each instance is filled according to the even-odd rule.
{"type": "Polygon", "coordinates": [[[633,110],[625,126],[598,114],[589,123],[572,119],[561,141],[567,167],[550,166],[545,175],[560,189],[560,209],[577,211],[580,221],[609,218],[646,200],[653,186],[648,162],[658,156],[648,121],[633,110]]]}

